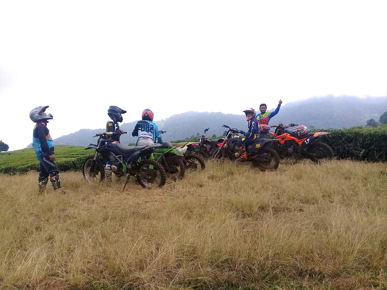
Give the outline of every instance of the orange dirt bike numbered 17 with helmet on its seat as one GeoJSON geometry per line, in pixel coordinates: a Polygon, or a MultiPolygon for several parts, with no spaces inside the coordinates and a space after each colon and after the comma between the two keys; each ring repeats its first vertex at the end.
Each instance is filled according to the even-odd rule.
{"type": "MultiPolygon", "coordinates": [[[[330,134],[329,132],[308,132],[304,129],[301,133],[286,130],[287,128],[298,126],[298,124],[287,124],[284,126],[279,123],[271,128],[276,128],[274,132],[270,132],[281,146],[279,147],[279,155],[282,157],[293,157],[295,160],[301,158],[309,158],[315,163],[319,163],[324,158],[332,158],[333,150],[330,146],[320,140],[319,136],[330,134]]],[[[305,127],[306,128],[306,127],[305,127]]]]}

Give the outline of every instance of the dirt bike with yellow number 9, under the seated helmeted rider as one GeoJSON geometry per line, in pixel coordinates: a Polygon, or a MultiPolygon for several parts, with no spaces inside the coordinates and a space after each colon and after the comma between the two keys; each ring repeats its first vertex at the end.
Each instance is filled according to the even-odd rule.
{"type": "MultiPolygon", "coordinates": [[[[226,138],[219,139],[222,142],[218,144],[212,159],[229,158],[235,160],[240,157],[236,138],[240,138],[239,134],[244,135],[245,132],[230,128],[227,125],[222,127],[228,128],[226,138]]],[[[276,152],[278,143],[276,139],[256,138],[253,144],[245,145],[247,161],[252,162],[253,167],[262,171],[277,169],[279,165],[279,156],[276,152]]]]}

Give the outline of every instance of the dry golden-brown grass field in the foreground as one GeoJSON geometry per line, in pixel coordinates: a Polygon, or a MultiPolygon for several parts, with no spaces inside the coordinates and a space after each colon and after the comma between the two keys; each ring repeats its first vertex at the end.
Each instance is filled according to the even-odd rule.
{"type": "Polygon", "coordinates": [[[0,175],[0,289],[387,289],[387,165],[207,162],[147,190],[0,175]]]}

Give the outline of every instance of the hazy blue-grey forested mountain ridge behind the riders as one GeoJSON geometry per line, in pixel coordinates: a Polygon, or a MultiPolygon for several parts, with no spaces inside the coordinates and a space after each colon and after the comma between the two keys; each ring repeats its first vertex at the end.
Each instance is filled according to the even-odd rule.
{"type": "MultiPolygon", "coordinates": [[[[259,106],[259,104],[257,105],[259,106]]],[[[243,111],[245,108],[241,108],[243,111]]],[[[259,113],[259,108],[255,108],[259,113]]],[[[267,111],[272,111],[270,108],[267,111]]],[[[385,97],[357,98],[349,96],[341,97],[318,97],[306,101],[292,102],[281,107],[279,113],[274,116],[270,124],[276,125],[279,122],[298,123],[308,128],[339,129],[349,128],[356,125],[366,125],[366,121],[373,118],[379,120],[381,114],[386,110],[385,97]]],[[[132,131],[137,121],[123,123],[120,127],[127,131],[121,136],[121,143],[135,143],[137,137],[132,137],[132,131]]],[[[156,121],[160,130],[167,131],[162,135],[163,141],[173,141],[189,138],[197,133],[201,135],[204,128],[210,127],[207,136],[223,135],[226,124],[232,128],[240,130],[247,129],[247,121],[243,113],[223,114],[220,112],[185,112],[175,114],[169,118],[156,121]]],[[[96,133],[105,131],[100,129],[81,129],[75,133],[61,136],[54,140],[55,145],[79,145],[87,146],[89,143],[96,143],[96,138],[92,138],[96,133]]],[[[31,144],[28,146],[31,147],[31,144]]]]}

